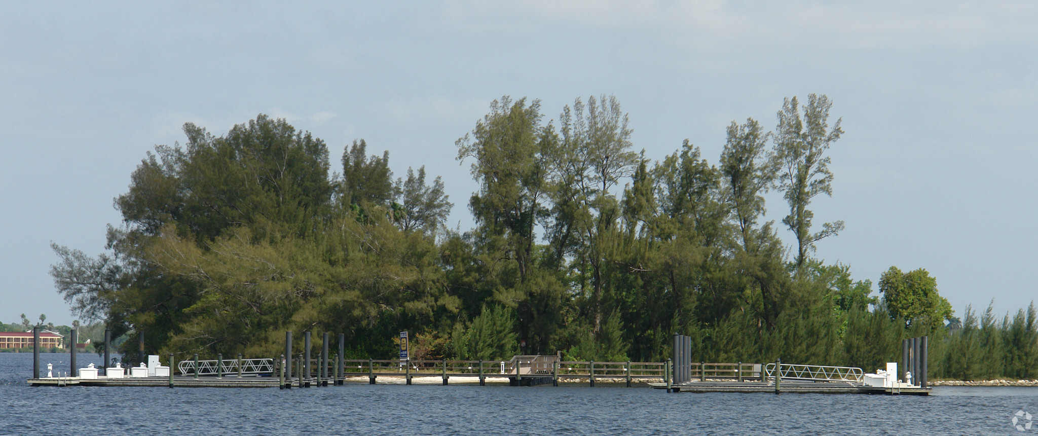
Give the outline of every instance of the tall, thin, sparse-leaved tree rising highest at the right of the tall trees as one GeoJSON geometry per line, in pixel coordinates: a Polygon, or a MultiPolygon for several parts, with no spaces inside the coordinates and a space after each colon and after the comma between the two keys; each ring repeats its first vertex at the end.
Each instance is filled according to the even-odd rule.
{"type": "Polygon", "coordinates": [[[773,158],[778,167],[776,187],[789,203],[789,215],[782,222],[796,236],[798,273],[807,262],[808,251],[815,248],[816,242],[844,228],[843,221],[836,221],[822,224],[818,233],[811,233],[815,214],[808,210],[818,194],[832,195],[830,159],[825,156],[825,151],[844,132],[840,129],[842,119],[837,119],[829,129],[831,107],[827,97],[812,93],[808,96],[802,117],[796,97],[786,99],[778,111],[773,158]]]}

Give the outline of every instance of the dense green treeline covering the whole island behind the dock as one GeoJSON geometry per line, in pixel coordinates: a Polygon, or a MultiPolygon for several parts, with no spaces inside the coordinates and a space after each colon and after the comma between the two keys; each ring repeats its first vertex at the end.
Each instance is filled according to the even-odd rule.
{"type": "Polygon", "coordinates": [[[157,146],[115,199],[107,252],[55,245],[52,274],[75,312],[162,353],[276,355],[284,330],[310,330],[387,358],[409,330],[416,358],[658,361],[683,333],[706,361],[874,369],[930,334],[934,377],[1035,377],[1033,305],[960,323],[925,270],[892,267],[876,299],[848,266],[812,257],[844,226],[811,210],[832,193],[830,107],[787,99],[774,132],[732,122],[710,164],[687,140],[660,160],[634,152],[613,97],[577,99],[557,121],[502,98],[456,144],[479,183],[465,233],[443,225],[439,178],[394,180],[363,140],[333,171],[324,141],[283,119],[220,137],[187,124],[187,142],[157,146]],[[777,224],[763,219],[769,190],[786,199],[777,224]],[[788,252],[777,225],[796,238],[788,252]]]}

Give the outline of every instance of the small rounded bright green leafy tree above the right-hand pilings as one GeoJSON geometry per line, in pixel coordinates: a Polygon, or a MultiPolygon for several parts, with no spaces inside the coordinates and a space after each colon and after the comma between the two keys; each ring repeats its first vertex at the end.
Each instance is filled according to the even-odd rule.
{"type": "Polygon", "coordinates": [[[891,318],[901,318],[906,327],[923,323],[931,331],[952,318],[952,305],[937,293],[937,280],[920,268],[902,273],[891,267],[879,277],[879,293],[891,318]]]}

